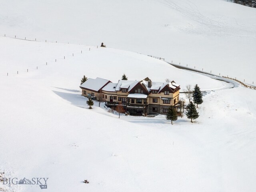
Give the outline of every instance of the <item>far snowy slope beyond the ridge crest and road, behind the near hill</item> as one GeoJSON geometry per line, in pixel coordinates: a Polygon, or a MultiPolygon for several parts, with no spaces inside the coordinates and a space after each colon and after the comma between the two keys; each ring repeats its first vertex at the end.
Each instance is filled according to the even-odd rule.
{"type": "Polygon", "coordinates": [[[14,0],[0,18],[2,36],[104,42],[256,82],[256,9],[226,0],[14,0]]]}

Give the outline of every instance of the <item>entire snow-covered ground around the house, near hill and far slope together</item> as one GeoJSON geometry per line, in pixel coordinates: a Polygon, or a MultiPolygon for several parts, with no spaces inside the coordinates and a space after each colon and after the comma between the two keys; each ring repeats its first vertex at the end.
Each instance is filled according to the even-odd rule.
{"type": "Polygon", "coordinates": [[[0,37],[0,172],[47,177],[48,192],[255,192],[256,90],[144,55],[252,81],[255,17],[222,0],[0,2],[2,32],[42,41],[0,37]],[[198,84],[200,117],[171,125],[163,115],[119,119],[98,102],[89,110],[82,76],[123,73],[198,84]]]}

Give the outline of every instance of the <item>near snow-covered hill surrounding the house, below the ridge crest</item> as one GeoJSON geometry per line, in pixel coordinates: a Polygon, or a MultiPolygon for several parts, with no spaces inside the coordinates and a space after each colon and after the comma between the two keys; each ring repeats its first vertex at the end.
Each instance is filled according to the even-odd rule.
{"type": "MultiPolygon", "coordinates": [[[[121,50],[82,46],[87,52],[81,54],[80,46],[72,44],[59,46],[9,38],[1,41],[5,42],[2,51],[16,44],[23,48],[19,53],[31,52],[32,56],[22,57],[24,62],[19,63],[15,52],[1,55],[5,62],[12,59],[1,66],[1,70],[12,73],[0,76],[0,170],[6,176],[48,177],[50,192],[256,189],[255,90],[236,87],[208,92],[194,124],[179,118],[171,125],[162,115],[118,119],[103,104],[99,108],[95,102],[94,109],[88,109],[78,88],[82,74],[99,73],[115,80],[123,68],[109,74],[105,63],[118,66],[126,62],[142,68],[144,64],[166,65],[166,70],[177,70],[177,78],[198,81],[207,88],[218,82],[205,76],[200,80],[202,75],[121,50]],[[53,54],[55,46],[58,50],[53,54]],[[62,55],[70,49],[76,54],[64,60],[62,55]],[[42,58],[50,61],[47,66],[42,58]],[[36,65],[40,66],[38,70],[36,65]],[[13,72],[16,68],[21,69],[18,75],[13,72]],[[208,83],[201,82],[205,80],[208,83]],[[90,183],[84,184],[85,179],[90,183]]],[[[130,76],[136,76],[131,71],[134,74],[130,76]]],[[[162,78],[162,71],[154,73],[153,78],[162,78]]],[[[6,191],[40,190],[30,185],[3,187],[6,191]]]]}

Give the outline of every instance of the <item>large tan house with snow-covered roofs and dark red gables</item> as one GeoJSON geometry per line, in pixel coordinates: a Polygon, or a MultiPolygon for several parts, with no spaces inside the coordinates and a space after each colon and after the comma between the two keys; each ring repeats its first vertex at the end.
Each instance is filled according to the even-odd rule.
{"type": "Polygon", "coordinates": [[[166,114],[169,106],[179,102],[180,85],[174,81],[152,82],[148,77],[140,81],[89,78],[80,88],[82,95],[94,100],[104,98],[108,107],[122,105],[129,114],[166,114]]]}

